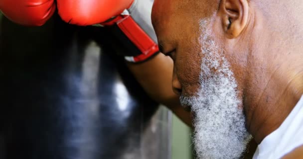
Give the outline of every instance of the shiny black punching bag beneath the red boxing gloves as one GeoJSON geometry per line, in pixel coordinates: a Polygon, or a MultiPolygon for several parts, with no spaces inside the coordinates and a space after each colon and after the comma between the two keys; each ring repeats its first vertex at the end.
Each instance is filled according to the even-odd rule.
{"type": "Polygon", "coordinates": [[[1,17],[0,159],[170,159],[170,114],[112,43],[58,16],[42,27],[1,17]]]}

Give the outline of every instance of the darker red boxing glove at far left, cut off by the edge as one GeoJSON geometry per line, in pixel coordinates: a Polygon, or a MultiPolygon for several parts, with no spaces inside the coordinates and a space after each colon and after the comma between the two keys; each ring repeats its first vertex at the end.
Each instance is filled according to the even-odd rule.
{"type": "Polygon", "coordinates": [[[56,5],[54,0],[0,0],[0,10],[15,23],[40,26],[53,15],[56,5]]]}

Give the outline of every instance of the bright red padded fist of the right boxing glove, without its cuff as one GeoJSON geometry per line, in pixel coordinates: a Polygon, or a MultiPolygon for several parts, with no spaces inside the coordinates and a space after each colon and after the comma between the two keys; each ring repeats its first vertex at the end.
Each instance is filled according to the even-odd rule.
{"type": "Polygon", "coordinates": [[[134,0],[57,0],[61,18],[70,24],[93,25],[119,15],[134,0]]]}

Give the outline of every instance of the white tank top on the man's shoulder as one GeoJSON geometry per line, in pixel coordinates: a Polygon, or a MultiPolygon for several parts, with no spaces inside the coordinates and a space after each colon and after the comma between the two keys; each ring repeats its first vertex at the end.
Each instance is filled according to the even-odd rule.
{"type": "Polygon", "coordinates": [[[281,159],[303,145],[303,96],[281,126],[263,139],[253,159],[281,159]]]}

